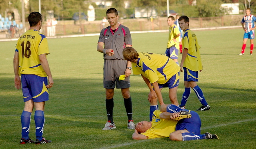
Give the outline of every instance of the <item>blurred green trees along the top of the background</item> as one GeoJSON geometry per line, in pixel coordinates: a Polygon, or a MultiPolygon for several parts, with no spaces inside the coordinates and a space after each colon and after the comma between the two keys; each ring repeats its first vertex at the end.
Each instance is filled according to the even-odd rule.
{"type": "MultiPolygon", "coordinates": [[[[124,9],[124,1],[122,0],[105,0],[112,1],[112,6],[117,8],[120,16],[130,16],[134,13],[135,7],[151,8],[154,7],[158,15],[167,10],[167,0],[129,0],[130,7],[124,9]]],[[[240,10],[246,7],[255,9],[255,0],[250,2],[247,0],[197,0],[196,5],[191,5],[193,0],[169,0],[169,9],[174,10],[180,15],[187,15],[189,17],[212,17],[223,16],[228,10],[222,9],[222,3],[238,2],[240,10]]],[[[89,5],[92,4],[95,8],[96,19],[102,19],[105,16],[106,7],[97,6],[91,0],[41,0],[41,13],[46,16],[48,10],[53,10],[55,17],[58,18],[72,18],[75,12],[87,13],[89,5]]],[[[21,14],[21,0],[0,0],[0,14],[4,17],[5,13],[11,11],[13,8],[18,9],[21,14]]],[[[29,0],[25,7],[26,18],[30,12],[38,11],[38,0],[29,0]]]]}

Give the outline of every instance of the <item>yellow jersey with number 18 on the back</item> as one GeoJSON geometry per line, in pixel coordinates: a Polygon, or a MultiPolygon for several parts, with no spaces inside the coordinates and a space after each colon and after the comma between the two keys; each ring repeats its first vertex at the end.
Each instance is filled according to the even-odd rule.
{"type": "Polygon", "coordinates": [[[19,52],[19,75],[37,75],[46,77],[39,55],[49,54],[46,36],[30,29],[19,37],[16,50],[19,52]]]}

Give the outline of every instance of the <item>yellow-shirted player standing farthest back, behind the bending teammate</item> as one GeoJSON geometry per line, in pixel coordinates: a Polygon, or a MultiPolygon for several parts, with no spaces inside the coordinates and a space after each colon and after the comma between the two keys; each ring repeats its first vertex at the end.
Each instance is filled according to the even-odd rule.
{"type": "Polygon", "coordinates": [[[177,25],[174,24],[174,17],[169,16],[167,19],[167,24],[170,26],[169,28],[169,38],[167,42],[167,49],[165,55],[170,57],[175,61],[176,64],[179,65],[178,62],[178,49],[179,49],[179,36],[181,36],[181,32],[177,25]]]}

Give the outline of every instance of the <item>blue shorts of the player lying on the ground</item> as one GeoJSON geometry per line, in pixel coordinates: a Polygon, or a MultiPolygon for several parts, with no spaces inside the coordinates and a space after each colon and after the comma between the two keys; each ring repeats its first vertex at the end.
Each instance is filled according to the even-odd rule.
{"type": "Polygon", "coordinates": [[[190,112],[191,118],[184,118],[178,121],[175,130],[186,129],[189,131],[189,133],[201,134],[201,120],[197,112],[186,109],[185,111],[190,112]]]}

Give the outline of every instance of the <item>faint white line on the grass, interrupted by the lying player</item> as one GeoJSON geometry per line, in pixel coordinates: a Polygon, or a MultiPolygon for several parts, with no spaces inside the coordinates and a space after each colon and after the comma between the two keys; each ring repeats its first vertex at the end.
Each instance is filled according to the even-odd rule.
{"type": "MultiPolygon", "coordinates": [[[[238,123],[243,123],[243,122],[247,122],[247,121],[254,121],[254,120],[256,120],[256,118],[248,119],[248,120],[243,120],[243,121],[236,121],[236,122],[227,123],[227,124],[220,124],[220,125],[215,125],[215,126],[210,126],[210,127],[203,127],[203,128],[201,128],[201,130],[216,128],[216,127],[222,127],[222,126],[227,126],[227,125],[232,125],[232,124],[238,124],[238,123]]],[[[98,148],[98,149],[112,149],[112,148],[117,148],[117,147],[132,145],[132,144],[135,144],[135,143],[145,142],[145,141],[147,141],[147,140],[150,141],[150,140],[155,140],[155,139],[139,140],[139,141],[136,141],[136,142],[123,143],[123,144],[119,144],[119,145],[108,146],[108,147],[103,147],[103,148],[98,148]]]]}

